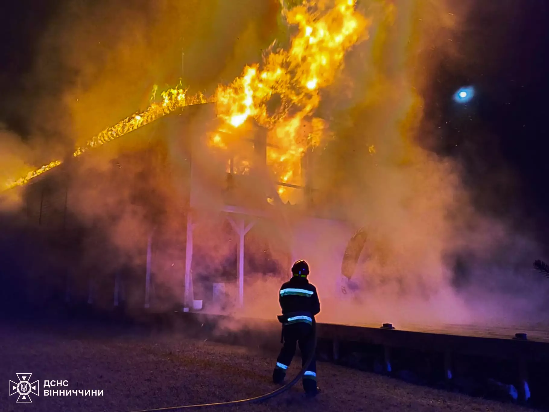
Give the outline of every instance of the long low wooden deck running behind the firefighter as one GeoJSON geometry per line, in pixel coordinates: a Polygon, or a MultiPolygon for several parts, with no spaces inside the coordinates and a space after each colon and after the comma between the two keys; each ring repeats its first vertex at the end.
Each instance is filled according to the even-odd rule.
{"type": "MultiPolygon", "coordinates": [[[[233,329],[235,334],[247,336],[259,331],[279,336],[280,324],[276,320],[230,318],[222,315],[187,313],[188,320],[201,327],[233,329]],[[229,326],[234,325],[234,326],[229,326]]],[[[542,325],[522,329],[511,327],[482,327],[476,325],[409,325],[407,329],[382,329],[379,326],[351,326],[317,324],[317,336],[332,342],[357,342],[391,348],[410,348],[438,353],[476,355],[495,359],[549,361],[549,332],[542,325]],[[527,340],[515,339],[515,333],[525,332],[527,340]]],[[[276,338],[275,338],[276,339],[276,338]]]]}

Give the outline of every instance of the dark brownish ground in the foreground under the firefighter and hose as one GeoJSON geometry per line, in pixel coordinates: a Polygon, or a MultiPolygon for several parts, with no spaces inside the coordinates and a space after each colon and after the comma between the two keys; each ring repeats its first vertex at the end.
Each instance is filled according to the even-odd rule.
{"type": "MultiPolygon", "coordinates": [[[[4,391],[0,411],[134,411],[174,405],[222,402],[267,393],[275,359],[271,354],[197,341],[177,335],[105,331],[97,327],[0,326],[0,373],[4,391]],[[31,372],[40,380],[40,396],[17,404],[8,396],[8,380],[31,372]],[[103,397],[43,396],[43,380],[66,380],[64,389],[103,389],[103,397]]],[[[289,377],[299,369],[290,367],[289,377]]],[[[301,384],[264,404],[200,408],[231,411],[526,411],[410,385],[389,377],[320,363],[322,393],[306,399],[301,384]]],[[[2,387],[2,386],[0,386],[2,387]]]]}

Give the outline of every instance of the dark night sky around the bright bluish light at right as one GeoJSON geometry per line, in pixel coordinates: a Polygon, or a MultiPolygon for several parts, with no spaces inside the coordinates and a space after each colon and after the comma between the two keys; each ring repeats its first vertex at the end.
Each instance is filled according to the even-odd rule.
{"type": "Polygon", "coordinates": [[[547,244],[549,4],[477,3],[453,39],[458,56],[444,59],[434,76],[426,118],[441,133],[425,144],[461,160],[479,210],[547,244]],[[469,85],[472,101],[455,103],[453,93],[469,85]]]}

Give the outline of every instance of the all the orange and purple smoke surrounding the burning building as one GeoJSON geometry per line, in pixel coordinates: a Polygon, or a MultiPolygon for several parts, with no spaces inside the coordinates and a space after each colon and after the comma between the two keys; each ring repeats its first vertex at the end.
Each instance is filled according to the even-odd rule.
{"type": "MultiPolygon", "coordinates": [[[[284,35],[277,27],[278,2],[67,4],[42,37],[29,75],[29,90],[37,91],[31,130],[42,136],[42,157],[64,158],[104,127],[145,108],[155,85],[162,90],[181,79],[191,92],[213,91],[284,35]]],[[[315,203],[346,223],[299,211],[289,218],[277,205],[271,224],[256,222],[245,237],[245,306],[239,308],[238,234],[215,211],[225,199],[212,194],[223,184],[217,172],[226,164],[211,149],[192,148],[189,137],[215,129],[210,109],[161,119],[66,164],[70,219],[64,236],[81,240],[66,258],[73,298],[89,293],[111,306],[119,276],[121,299],[141,305],[150,254],[156,301],[181,307],[192,152],[199,185],[191,197],[200,200],[192,216],[194,298],[207,302],[212,283],[226,286],[225,300],[209,311],[273,319],[289,264],[306,258],[321,297],[321,321],[510,323],[537,313],[546,288],[525,272],[535,245],[475,210],[462,165],[423,144],[439,138],[425,110],[434,98],[436,68],[442,59],[463,58],[452,39],[466,31],[472,6],[386,1],[360,7],[372,21],[369,39],[347,56],[315,113],[334,136],[317,151],[313,187],[322,194],[315,203]],[[164,138],[168,143],[159,143],[164,138]],[[368,240],[349,282],[340,259],[359,227],[368,240]],[[75,235],[76,229],[84,234],[75,235]]],[[[18,137],[3,135],[6,176],[0,177],[24,174],[36,159],[18,137]]],[[[264,199],[264,177],[245,178],[249,185],[237,192],[239,201],[264,199]]]]}

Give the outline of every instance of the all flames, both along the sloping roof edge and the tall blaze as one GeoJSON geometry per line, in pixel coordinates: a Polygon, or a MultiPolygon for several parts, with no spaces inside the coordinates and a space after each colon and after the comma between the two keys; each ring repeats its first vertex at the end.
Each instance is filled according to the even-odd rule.
{"type": "MultiPolygon", "coordinates": [[[[324,121],[315,118],[321,90],[335,80],[346,52],[367,37],[369,21],[356,10],[355,2],[305,0],[292,8],[283,7],[283,16],[293,30],[287,49],[276,48],[273,43],[261,64],[246,66],[230,85],[220,85],[214,96],[188,96],[182,88],[164,91],[160,102],[103,130],[85,146],[76,148],[74,157],[187,105],[215,102],[224,124],[212,131],[210,146],[227,149],[232,139],[238,138],[238,128],[248,119],[255,119],[269,130],[272,144],[267,163],[275,179],[295,183],[295,171],[306,148],[320,144],[326,129],[324,121]]],[[[5,183],[5,188],[23,186],[61,163],[54,160],[29,171],[5,183]]],[[[281,187],[279,194],[284,190],[281,187]]]]}

